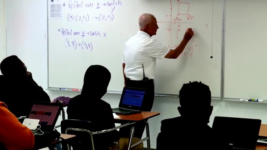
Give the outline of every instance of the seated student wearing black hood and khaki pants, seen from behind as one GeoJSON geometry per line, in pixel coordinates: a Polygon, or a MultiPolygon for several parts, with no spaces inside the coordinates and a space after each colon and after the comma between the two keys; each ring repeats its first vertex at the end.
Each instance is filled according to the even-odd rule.
{"type": "MultiPolygon", "coordinates": [[[[81,94],[72,98],[68,104],[68,119],[90,121],[95,127],[94,131],[114,128],[115,123],[111,106],[109,103],[101,100],[102,96],[107,92],[110,79],[111,74],[107,68],[100,65],[90,66],[85,72],[81,94]]],[[[127,149],[129,141],[128,138],[120,138],[117,130],[99,134],[93,138],[96,150],[127,149]],[[115,141],[119,145],[113,144],[115,141]]],[[[136,143],[139,140],[134,138],[132,143],[136,143]]],[[[87,143],[88,139],[84,143],[80,143],[80,146],[84,148],[87,143]]],[[[75,147],[73,148],[75,149],[75,147]]],[[[141,150],[142,148],[143,143],[132,149],[141,150]]]]}

